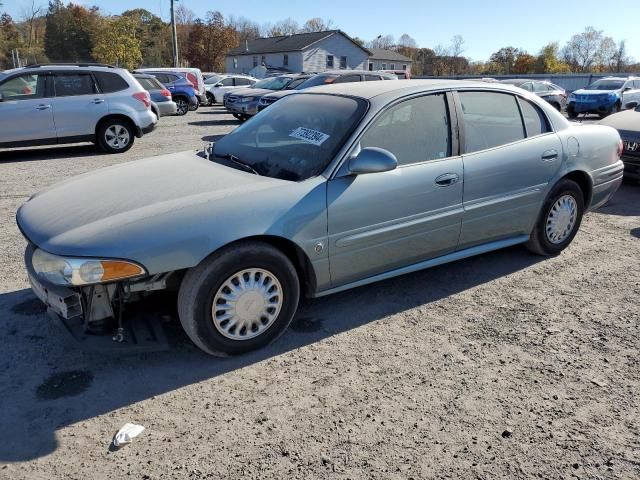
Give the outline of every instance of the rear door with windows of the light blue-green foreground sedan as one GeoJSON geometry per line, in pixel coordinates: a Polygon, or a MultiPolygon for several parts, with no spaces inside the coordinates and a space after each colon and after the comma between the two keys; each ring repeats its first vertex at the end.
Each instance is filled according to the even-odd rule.
{"type": "Polygon", "coordinates": [[[561,165],[560,139],[542,110],[519,96],[457,96],[464,163],[459,248],[529,235],[561,165]]]}

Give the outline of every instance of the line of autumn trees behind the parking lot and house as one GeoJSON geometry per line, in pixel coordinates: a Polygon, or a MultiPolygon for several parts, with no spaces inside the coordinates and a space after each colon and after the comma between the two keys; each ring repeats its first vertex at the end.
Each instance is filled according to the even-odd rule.
{"type": "MultiPolygon", "coordinates": [[[[99,7],[50,0],[48,7],[32,0],[19,20],[0,15],[0,68],[11,68],[17,51],[22,64],[95,61],[125,68],[170,66],[171,28],[148,10],[137,8],[120,15],[103,15],[99,7]]],[[[0,6],[2,3],[0,2],[0,6]]],[[[203,71],[223,71],[231,48],[258,37],[274,37],[337,28],[333,21],[312,18],[299,24],[292,18],[259,24],[242,16],[225,18],[209,11],[204,18],[183,4],[176,8],[179,58],[182,66],[203,71]]],[[[465,40],[455,35],[449,44],[419,47],[408,34],[396,39],[380,35],[369,41],[355,37],[362,46],[395,50],[413,60],[414,75],[498,75],[570,72],[638,71],[624,40],[616,42],[603,31],[587,27],[566,45],[551,42],[538,52],[506,46],[486,61],[464,56],[465,40]]]]}

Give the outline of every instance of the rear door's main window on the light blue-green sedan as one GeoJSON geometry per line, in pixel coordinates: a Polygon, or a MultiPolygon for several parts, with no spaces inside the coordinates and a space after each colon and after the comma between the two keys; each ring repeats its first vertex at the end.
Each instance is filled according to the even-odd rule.
{"type": "Polygon", "coordinates": [[[497,92],[459,92],[467,153],[524,138],[516,98],[497,92]]]}

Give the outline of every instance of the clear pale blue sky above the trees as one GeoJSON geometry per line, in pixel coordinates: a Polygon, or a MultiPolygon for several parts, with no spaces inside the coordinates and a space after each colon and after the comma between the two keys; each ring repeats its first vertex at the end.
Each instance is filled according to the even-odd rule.
{"type": "MultiPolygon", "coordinates": [[[[68,1],[68,0],[65,0],[68,1]]],[[[637,0],[634,0],[637,1],[637,0]]],[[[627,5],[633,5],[634,1],[627,5]]],[[[391,34],[408,33],[421,47],[447,45],[456,34],[465,39],[463,55],[486,60],[504,46],[537,53],[549,41],[563,45],[574,33],[588,25],[619,41],[625,39],[629,53],[640,60],[640,16],[625,15],[622,5],[602,0],[537,0],[514,2],[493,0],[179,0],[204,16],[207,10],[220,10],[225,16],[245,16],[258,23],[273,23],[292,17],[299,23],[312,17],[332,19],[337,28],[365,40],[391,34]],[[530,5],[529,8],[523,7],[530,5]]],[[[3,0],[4,9],[20,18],[31,0],[3,0]]],[[[36,4],[38,0],[36,0],[36,4]]],[[[42,5],[47,4],[41,0],[42,5]]],[[[146,8],[169,18],[169,0],[78,0],[85,5],[99,4],[103,12],[118,14],[131,8],[146,8]]],[[[630,7],[634,9],[635,7],[630,7]]],[[[635,8],[640,13],[640,7],[635,8]]]]}

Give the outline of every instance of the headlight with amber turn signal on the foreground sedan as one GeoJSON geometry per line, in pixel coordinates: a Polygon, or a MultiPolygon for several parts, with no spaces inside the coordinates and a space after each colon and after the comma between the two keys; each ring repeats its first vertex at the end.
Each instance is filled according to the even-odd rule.
{"type": "Polygon", "coordinates": [[[138,277],[147,272],[124,260],[67,258],[36,249],[31,265],[40,278],[55,285],[89,285],[138,277]]]}

